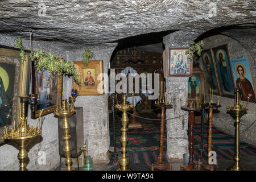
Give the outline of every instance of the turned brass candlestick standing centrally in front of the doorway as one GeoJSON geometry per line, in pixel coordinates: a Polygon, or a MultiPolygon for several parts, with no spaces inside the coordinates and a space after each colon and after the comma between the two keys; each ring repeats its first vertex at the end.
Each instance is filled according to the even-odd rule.
{"type": "Polygon", "coordinates": [[[133,108],[132,104],[127,104],[126,102],[126,95],[123,94],[123,103],[122,104],[118,104],[115,105],[115,107],[117,107],[117,109],[121,110],[123,112],[122,114],[122,136],[121,136],[121,143],[122,143],[122,155],[120,156],[118,162],[120,164],[121,167],[119,167],[117,169],[117,171],[131,171],[130,168],[128,168],[128,164],[130,162],[129,157],[126,154],[127,148],[127,142],[128,142],[128,138],[127,138],[127,124],[129,121],[128,115],[127,115],[127,111],[129,111],[131,108],[133,108]]]}

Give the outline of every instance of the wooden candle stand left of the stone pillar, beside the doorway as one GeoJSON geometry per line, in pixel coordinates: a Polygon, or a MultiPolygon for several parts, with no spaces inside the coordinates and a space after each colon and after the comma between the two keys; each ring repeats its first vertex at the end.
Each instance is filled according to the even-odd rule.
{"type": "Polygon", "coordinates": [[[162,114],[161,114],[161,122],[160,122],[160,146],[159,146],[159,157],[157,162],[151,164],[151,171],[154,171],[154,169],[158,170],[166,170],[169,168],[169,170],[172,170],[172,164],[168,164],[163,162],[163,132],[164,132],[164,110],[166,108],[171,109],[172,105],[164,105],[164,104],[159,104],[159,106],[162,109],[162,114]]]}

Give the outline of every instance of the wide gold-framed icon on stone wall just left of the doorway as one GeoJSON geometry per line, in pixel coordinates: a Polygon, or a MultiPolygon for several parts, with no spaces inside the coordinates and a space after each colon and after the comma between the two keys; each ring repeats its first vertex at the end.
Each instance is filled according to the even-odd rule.
{"type": "Polygon", "coordinates": [[[77,89],[78,94],[80,96],[104,94],[104,85],[99,85],[103,78],[101,80],[97,79],[98,75],[103,73],[103,61],[89,61],[86,67],[82,61],[75,61],[74,64],[81,80],[81,85],[74,83],[74,88],[77,89]]]}

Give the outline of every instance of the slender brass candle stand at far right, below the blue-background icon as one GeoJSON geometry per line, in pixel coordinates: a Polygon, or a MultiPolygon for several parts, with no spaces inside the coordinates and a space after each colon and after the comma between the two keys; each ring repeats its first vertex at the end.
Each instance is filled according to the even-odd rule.
{"type": "MultiPolygon", "coordinates": [[[[232,115],[235,119],[235,126],[236,126],[236,148],[235,148],[235,156],[234,156],[234,161],[235,163],[230,166],[229,168],[226,169],[226,171],[245,171],[245,168],[243,168],[240,164],[241,158],[240,158],[240,143],[239,143],[239,123],[240,123],[240,118],[242,117],[243,114],[245,114],[245,111],[248,110],[247,105],[243,106],[240,104],[241,98],[239,94],[239,90],[237,89],[236,92],[236,104],[228,106],[228,111],[230,115],[232,115]]],[[[247,101],[247,104],[249,102],[249,98],[247,101]]]]}

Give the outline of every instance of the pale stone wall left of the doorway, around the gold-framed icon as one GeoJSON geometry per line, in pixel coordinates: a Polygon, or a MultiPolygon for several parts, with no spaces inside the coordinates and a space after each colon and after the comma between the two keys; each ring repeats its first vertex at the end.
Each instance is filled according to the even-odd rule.
{"type": "MultiPolygon", "coordinates": [[[[108,75],[109,61],[116,43],[104,44],[90,49],[96,60],[103,60],[103,71],[108,75]]],[[[84,49],[67,51],[70,60],[81,61],[84,49]],[[73,59],[72,59],[73,57],[73,59]]],[[[94,58],[92,59],[92,61],[94,58]]],[[[63,93],[66,98],[71,96],[72,78],[65,77],[63,93]]],[[[108,93],[97,96],[77,96],[75,106],[83,107],[84,114],[84,142],[88,140],[88,155],[93,160],[108,160],[106,152],[109,150],[109,114],[108,93]]]]}

